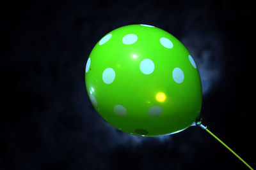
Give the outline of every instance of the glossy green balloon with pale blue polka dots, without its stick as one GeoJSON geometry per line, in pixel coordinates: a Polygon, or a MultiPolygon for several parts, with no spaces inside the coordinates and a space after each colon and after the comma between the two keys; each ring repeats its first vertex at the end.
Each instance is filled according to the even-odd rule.
{"type": "Polygon", "coordinates": [[[173,134],[199,116],[202,86],[195,61],[163,29],[136,24],[109,32],[94,46],[85,72],[93,107],[120,131],[173,134]]]}

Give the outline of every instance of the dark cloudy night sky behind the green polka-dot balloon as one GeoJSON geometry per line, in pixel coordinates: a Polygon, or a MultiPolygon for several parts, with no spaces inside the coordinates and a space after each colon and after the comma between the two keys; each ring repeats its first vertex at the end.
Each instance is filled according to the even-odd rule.
{"type": "Polygon", "coordinates": [[[203,124],[256,167],[251,1],[9,1],[1,8],[0,169],[247,169],[199,127],[138,137],[97,114],[86,61],[100,38],[129,24],[164,29],[188,48],[202,79],[203,124]]]}

